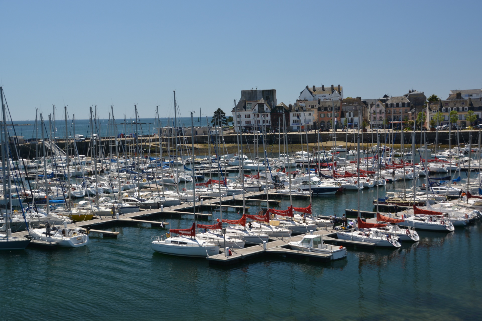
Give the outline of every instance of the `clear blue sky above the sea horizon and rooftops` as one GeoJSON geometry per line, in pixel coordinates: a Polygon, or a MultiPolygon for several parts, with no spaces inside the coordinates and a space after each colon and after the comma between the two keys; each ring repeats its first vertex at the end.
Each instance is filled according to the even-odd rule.
{"type": "Polygon", "coordinates": [[[482,1],[0,1],[0,78],[14,120],[68,105],[88,118],[182,116],[241,90],[295,102],[481,88],[482,1]]]}

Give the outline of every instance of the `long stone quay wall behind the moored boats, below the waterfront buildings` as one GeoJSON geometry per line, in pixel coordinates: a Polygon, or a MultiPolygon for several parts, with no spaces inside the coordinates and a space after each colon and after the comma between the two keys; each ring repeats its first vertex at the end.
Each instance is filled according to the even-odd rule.
{"type": "MultiPolygon", "coordinates": [[[[472,130],[471,132],[469,130],[461,130],[458,133],[456,131],[452,131],[451,133],[451,143],[452,146],[455,146],[457,142],[457,135],[458,135],[458,141],[461,144],[469,144],[469,136],[471,133],[471,138],[472,138],[472,144],[478,144],[479,141],[479,135],[480,132],[476,130],[472,130]]],[[[435,140],[437,139],[439,144],[442,145],[448,145],[449,143],[449,132],[448,131],[439,131],[438,133],[435,131],[425,131],[425,139],[428,144],[433,144],[435,143],[435,140]]],[[[320,137],[320,142],[323,145],[328,145],[331,146],[331,142],[333,140],[333,133],[332,132],[316,132],[316,131],[311,131],[308,133],[299,133],[299,132],[290,132],[287,135],[287,144],[292,145],[292,144],[306,144],[307,137],[308,137],[308,142],[309,143],[316,143],[318,142],[318,136],[320,137]]],[[[392,144],[392,141],[394,144],[401,144],[402,142],[402,137],[403,137],[403,143],[404,144],[411,144],[412,143],[412,132],[400,132],[400,131],[379,131],[378,136],[380,138],[380,144],[392,144]]],[[[236,145],[239,141],[240,136],[237,136],[236,134],[233,133],[225,133],[223,135],[224,142],[226,144],[233,144],[236,145]]],[[[377,133],[375,131],[367,131],[363,132],[363,134],[357,133],[357,132],[342,132],[342,131],[337,131],[336,132],[336,144],[337,145],[344,145],[345,141],[348,141],[348,143],[356,143],[358,140],[358,137],[360,137],[360,143],[365,143],[365,144],[376,144],[377,143],[377,133]]],[[[279,135],[278,133],[268,133],[266,135],[268,145],[271,144],[278,144],[280,142],[281,138],[281,144],[283,144],[283,135],[279,135]]],[[[420,131],[415,132],[415,143],[417,145],[420,144],[420,131]]],[[[422,136],[423,138],[423,136],[422,136]]],[[[164,136],[162,137],[162,148],[165,151],[168,147],[168,142],[167,142],[168,137],[164,136]]],[[[208,144],[208,141],[211,140],[211,138],[207,135],[199,135],[199,136],[194,136],[194,143],[195,144],[208,144]]],[[[123,153],[124,151],[127,151],[128,154],[133,154],[135,150],[135,145],[139,145],[140,149],[142,149],[144,152],[147,153],[147,149],[151,149],[151,153],[154,152],[155,146],[156,146],[156,141],[159,142],[159,137],[155,136],[139,136],[137,138],[137,141],[132,138],[121,138],[118,139],[118,147],[120,148],[120,153],[123,153]]],[[[169,137],[169,146],[171,149],[173,149],[174,146],[174,137],[169,137]]],[[[243,144],[254,144],[256,141],[259,141],[259,144],[262,145],[262,136],[260,134],[243,134],[242,135],[242,143],[243,144]]],[[[211,143],[213,141],[211,140],[211,143]]],[[[59,146],[62,150],[65,151],[65,140],[57,140],[55,141],[56,145],[59,146]]],[[[77,141],[76,146],[79,154],[82,155],[90,155],[90,150],[92,149],[92,142],[90,139],[86,139],[85,141],[77,141]]],[[[184,136],[184,137],[177,137],[177,143],[178,144],[191,144],[191,136],[184,136]]],[[[240,141],[241,143],[241,141],[240,141]]],[[[423,143],[423,141],[422,141],[423,143]]],[[[69,154],[76,154],[74,153],[73,149],[73,144],[72,141],[70,141],[69,144],[69,154]]],[[[101,138],[100,142],[97,141],[97,144],[95,144],[96,150],[99,151],[100,147],[102,146],[102,151],[105,155],[108,155],[110,153],[115,154],[116,153],[116,143],[113,138],[101,138]]],[[[22,158],[35,158],[36,155],[38,154],[39,156],[43,155],[43,150],[42,150],[42,144],[37,145],[37,142],[26,142],[22,144],[17,144],[17,146],[13,146],[11,144],[11,151],[12,151],[12,156],[16,158],[16,152],[15,152],[15,147],[18,150],[18,153],[20,154],[20,157],[22,158]]],[[[157,150],[159,152],[159,143],[157,143],[157,150]]]]}

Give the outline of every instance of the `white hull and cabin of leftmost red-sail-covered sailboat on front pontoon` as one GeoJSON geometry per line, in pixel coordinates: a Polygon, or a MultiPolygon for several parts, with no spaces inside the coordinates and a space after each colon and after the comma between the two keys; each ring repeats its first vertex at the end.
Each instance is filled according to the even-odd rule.
{"type": "Polygon", "coordinates": [[[162,254],[181,257],[210,257],[219,254],[219,246],[188,236],[155,237],[151,248],[162,254]]]}

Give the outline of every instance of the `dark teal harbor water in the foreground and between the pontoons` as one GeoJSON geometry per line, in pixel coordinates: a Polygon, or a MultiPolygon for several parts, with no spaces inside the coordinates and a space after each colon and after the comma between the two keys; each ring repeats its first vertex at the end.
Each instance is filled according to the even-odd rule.
{"type": "MultiPolygon", "coordinates": [[[[396,188],[403,182],[386,187],[396,188]]],[[[375,195],[376,188],[361,191],[362,210],[373,209],[375,195]]],[[[265,206],[247,205],[250,214],[265,206]]],[[[283,199],[276,207],[287,205],[283,199]]],[[[340,217],[356,207],[356,192],[313,198],[313,214],[340,217]]],[[[213,213],[204,220],[210,224],[220,215],[203,212],[213,213]]],[[[223,208],[223,218],[239,217],[238,209],[223,208]]],[[[163,221],[188,228],[192,217],[163,221]]],[[[482,313],[480,223],[451,233],[419,231],[420,242],[395,250],[349,248],[346,259],[328,264],[264,257],[231,267],[155,253],[151,236],[167,230],[150,224],[105,229],[120,234],[91,233],[80,248],[1,252],[2,319],[480,320],[482,313]]]]}

